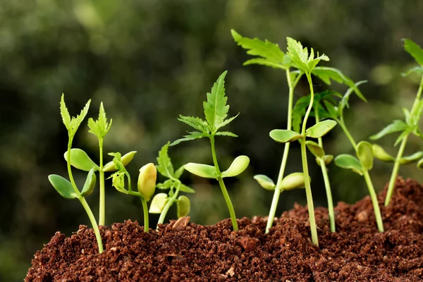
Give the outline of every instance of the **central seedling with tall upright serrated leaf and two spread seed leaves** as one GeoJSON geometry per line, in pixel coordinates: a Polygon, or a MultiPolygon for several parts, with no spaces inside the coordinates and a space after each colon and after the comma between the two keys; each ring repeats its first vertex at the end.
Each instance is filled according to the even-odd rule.
{"type": "Polygon", "coordinates": [[[227,125],[238,115],[231,118],[226,118],[228,116],[229,105],[226,105],[228,97],[225,97],[225,76],[227,71],[223,72],[219,78],[216,80],[212,87],[212,92],[207,93],[207,101],[203,102],[204,106],[204,116],[206,121],[202,118],[195,118],[192,116],[182,116],[178,118],[178,121],[182,121],[190,125],[192,128],[195,128],[196,131],[188,132],[189,135],[185,135],[183,138],[180,138],[173,142],[172,145],[176,145],[183,141],[195,140],[202,137],[209,137],[210,144],[212,146],[212,157],[214,166],[209,166],[206,164],[195,164],[189,163],[185,164],[184,168],[190,173],[193,173],[197,176],[204,178],[214,178],[219,181],[223,197],[225,198],[226,205],[229,209],[229,214],[231,214],[231,221],[234,231],[238,231],[238,223],[236,222],[235,210],[231,202],[231,198],[228,195],[226,190],[225,183],[223,183],[223,178],[238,176],[242,173],[245,168],[247,168],[250,163],[250,159],[247,156],[237,157],[231,166],[226,170],[221,172],[219,164],[216,157],[216,149],[214,147],[214,137],[218,135],[237,137],[234,133],[228,131],[219,131],[223,126],[227,125]]]}

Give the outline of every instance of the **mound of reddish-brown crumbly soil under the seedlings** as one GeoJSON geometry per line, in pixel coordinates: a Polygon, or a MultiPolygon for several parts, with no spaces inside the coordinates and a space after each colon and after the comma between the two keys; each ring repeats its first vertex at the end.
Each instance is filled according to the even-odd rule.
{"type": "Polygon", "coordinates": [[[144,233],[136,221],[80,226],[56,233],[32,259],[25,281],[423,281],[423,187],[398,178],[384,207],[385,232],[376,228],[369,197],[336,207],[336,233],[327,210],[316,209],[319,247],[312,245],[305,207],[295,205],[264,234],[266,218],[226,219],[214,226],[171,221],[144,233]]]}

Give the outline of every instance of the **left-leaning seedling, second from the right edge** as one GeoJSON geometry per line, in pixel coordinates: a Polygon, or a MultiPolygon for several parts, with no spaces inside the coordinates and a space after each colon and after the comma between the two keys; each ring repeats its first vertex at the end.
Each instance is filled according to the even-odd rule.
{"type": "MultiPolygon", "coordinates": [[[[343,95],[341,101],[338,105],[333,101],[333,99],[321,99],[319,102],[319,113],[322,116],[332,118],[334,121],[341,126],[343,132],[348,137],[351,145],[355,150],[355,154],[357,157],[354,157],[350,154],[341,154],[335,158],[335,164],[340,166],[341,168],[351,169],[355,173],[358,173],[360,176],[364,177],[366,181],[367,188],[369,190],[369,195],[372,199],[374,214],[376,217],[376,224],[380,232],[384,231],[384,224],[382,222],[381,211],[379,208],[379,203],[377,201],[376,192],[374,190],[374,185],[372,183],[372,179],[370,178],[369,171],[373,167],[373,159],[374,159],[374,152],[373,147],[369,142],[355,142],[353,136],[350,134],[347,126],[345,125],[343,111],[345,108],[348,108],[348,100],[350,99],[350,95],[355,92],[360,99],[364,102],[366,101],[362,96],[361,92],[358,90],[358,86],[364,83],[365,81],[360,81],[355,83],[354,87],[350,87],[347,92],[343,95]]],[[[340,94],[335,94],[335,96],[339,97],[340,94]]]]}

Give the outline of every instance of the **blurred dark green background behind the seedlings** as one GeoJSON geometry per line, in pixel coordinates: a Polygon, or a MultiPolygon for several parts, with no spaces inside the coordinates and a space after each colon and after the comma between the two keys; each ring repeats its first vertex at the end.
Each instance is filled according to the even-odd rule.
{"type": "MultiPolygon", "coordinates": [[[[90,225],[77,200],[64,200],[47,180],[50,173],[66,176],[67,133],[59,115],[61,93],[72,115],[92,99],[90,117],[100,102],[114,122],[104,142],[105,152],[137,155],[128,170],[156,162],[168,140],[188,130],[178,114],[202,116],[202,101],[220,73],[228,70],[228,125],[238,138],[219,137],[217,154],[225,168],[239,154],[251,159],[240,178],[227,186],[238,218],[265,216],[272,192],[262,190],[252,176],[276,179],[283,145],[269,137],[286,127],[285,73],[264,66],[246,66],[250,58],[231,37],[231,28],[247,37],[278,43],[286,36],[327,54],[326,66],[341,68],[353,80],[369,80],[361,89],[368,103],[353,97],[346,120],[356,140],[366,140],[410,108],[419,78],[400,73],[415,66],[403,51],[407,37],[423,46],[423,1],[248,1],[248,0],[103,0],[1,1],[0,5],[0,281],[21,281],[35,252],[56,231],[71,235],[79,224],[90,225]]],[[[328,89],[314,80],[315,91],[328,89]]],[[[332,85],[344,92],[343,85],[332,85]]],[[[301,81],[295,94],[307,94],[301,81]]],[[[381,145],[395,154],[396,136],[381,145]]],[[[97,140],[84,123],[74,147],[98,159],[97,140]]],[[[351,152],[336,128],[324,140],[326,152],[351,152]]],[[[410,138],[407,152],[421,142],[410,138]]],[[[299,146],[293,145],[287,173],[300,171],[299,146]]],[[[212,163],[209,142],[195,140],[171,147],[176,166],[189,161],[212,163]]],[[[314,204],[326,206],[318,166],[309,157],[314,204]]],[[[376,161],[372,170],[377,190],[388,181],[392,166],[376,161]]],[[[414,166],[401,168],[405,177],[422,180],[414,166]]],[[[333,198],[355,202],[367,195],[359,176],[330,166],[333,198]]],[[[77,182],[85,173],[75,171],[77,182]]],[[[159,178],[159,180],[163,180],[159,178]]],[[[228,217],[215,181],[185,172],[192,222],[212,224],[228,217]]],[[[98,192],[87,198],[98,214],[98,192]]],[[[284,192],[277,214],[293,202],[305,203],[305,192],[284,192]]],[[[168,219],[175,219],[175,207],[168,219]]],[[[139,200],[106,187],[106,224],[126,219],[142,224],[139,200]]],[[[150,216],[155,226],[158,216],[150,216]]]]}

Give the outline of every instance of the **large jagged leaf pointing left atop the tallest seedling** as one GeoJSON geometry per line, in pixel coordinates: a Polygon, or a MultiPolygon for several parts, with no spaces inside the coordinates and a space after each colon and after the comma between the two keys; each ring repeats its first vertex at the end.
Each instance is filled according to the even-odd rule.
{"type": "Polygon", "coordinates": [[[238,32],[235,32],[235,30],[231,30],[231,33],[235,42],[244,49],[248,50],[247,54],[260,57],[246,61],[244,66],[256,63],[259,65],[270,66],[272,68],[281,68],[283,70],[290,67],[287,63],[286,54],[281,51],[278,44],[274,44],[268,40],[262,41],[257,38],[250,39],[242,37],[238,34],[238,32]]]}

